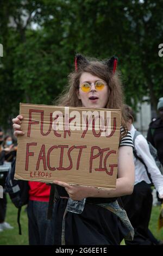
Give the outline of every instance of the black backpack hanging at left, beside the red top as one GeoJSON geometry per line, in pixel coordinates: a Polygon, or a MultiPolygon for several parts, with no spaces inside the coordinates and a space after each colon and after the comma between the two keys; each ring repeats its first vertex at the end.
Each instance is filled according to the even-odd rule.
{"type": "Polygon", "coordinates": [[[26,180],[14,180],[15,174],[15,162],[16,159],[12,161],[11,168],[5,180],[5,192],[9,193],[12,203],[18,208],[17,212],[17,223],[19,228],[19,234],[21,235],[21,224],[20,224],[20,214],[23,205],[28,204],[29,199],[29,186],[26,180]]]}

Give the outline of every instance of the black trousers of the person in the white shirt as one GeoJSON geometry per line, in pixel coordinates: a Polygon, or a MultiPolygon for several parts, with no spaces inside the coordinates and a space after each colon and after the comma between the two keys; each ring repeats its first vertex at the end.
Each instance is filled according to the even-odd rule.
{"type": "Polygon", "coordinates": [[[133,241],[126,241],[127,245],[152,245],[148,236],[148,225],[152,211],[152,189],[145,181],[134,186],[133,194],[121,197],[124,209],[135,229],[133,241]]]}

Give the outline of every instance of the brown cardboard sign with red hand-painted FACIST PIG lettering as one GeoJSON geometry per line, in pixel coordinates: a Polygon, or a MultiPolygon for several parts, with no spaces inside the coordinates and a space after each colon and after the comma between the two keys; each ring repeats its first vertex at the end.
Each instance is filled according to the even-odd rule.
{"type": "Polygon", "coordinates": [[[116,187],[120,109],[20,103],[15,179],[116,187]]]}

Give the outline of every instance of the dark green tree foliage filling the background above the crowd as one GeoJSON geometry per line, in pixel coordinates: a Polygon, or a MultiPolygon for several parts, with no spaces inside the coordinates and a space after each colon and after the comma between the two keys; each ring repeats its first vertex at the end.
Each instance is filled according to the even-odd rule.
{"type": "Polygon", "coordinates": [[[0,124],[7,127],[19,102],[52,104],[67,84],[74,54],[116,54],[126,102],[163,95],[162,1],[1,1],[0,124]],[[132,100],[131,100],[132,99],[132,100]]]}

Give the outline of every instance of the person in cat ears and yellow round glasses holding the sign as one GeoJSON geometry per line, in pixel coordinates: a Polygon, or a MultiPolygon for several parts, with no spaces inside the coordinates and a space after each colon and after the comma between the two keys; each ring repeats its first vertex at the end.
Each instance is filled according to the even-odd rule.
{"type": "MultiPolygon", "coordinates": [[[[99,62],[77,54],[76,70],[70,74],[69,86],[57,104],[122,109],[123,95],[116,63],[115,57],[99,62]]],[[[14,120],[16,135],[24,134],[21,131],[22,118],[18,115],[14,120]]],[[[55,202],[54,244],[120,245],[123,237],[131,239],[133,227],[117,197],[133,192],[134,176],[133,143],[122,117],[115,190],[70,186],[54,181],[60,196],[55,202]]]]}

